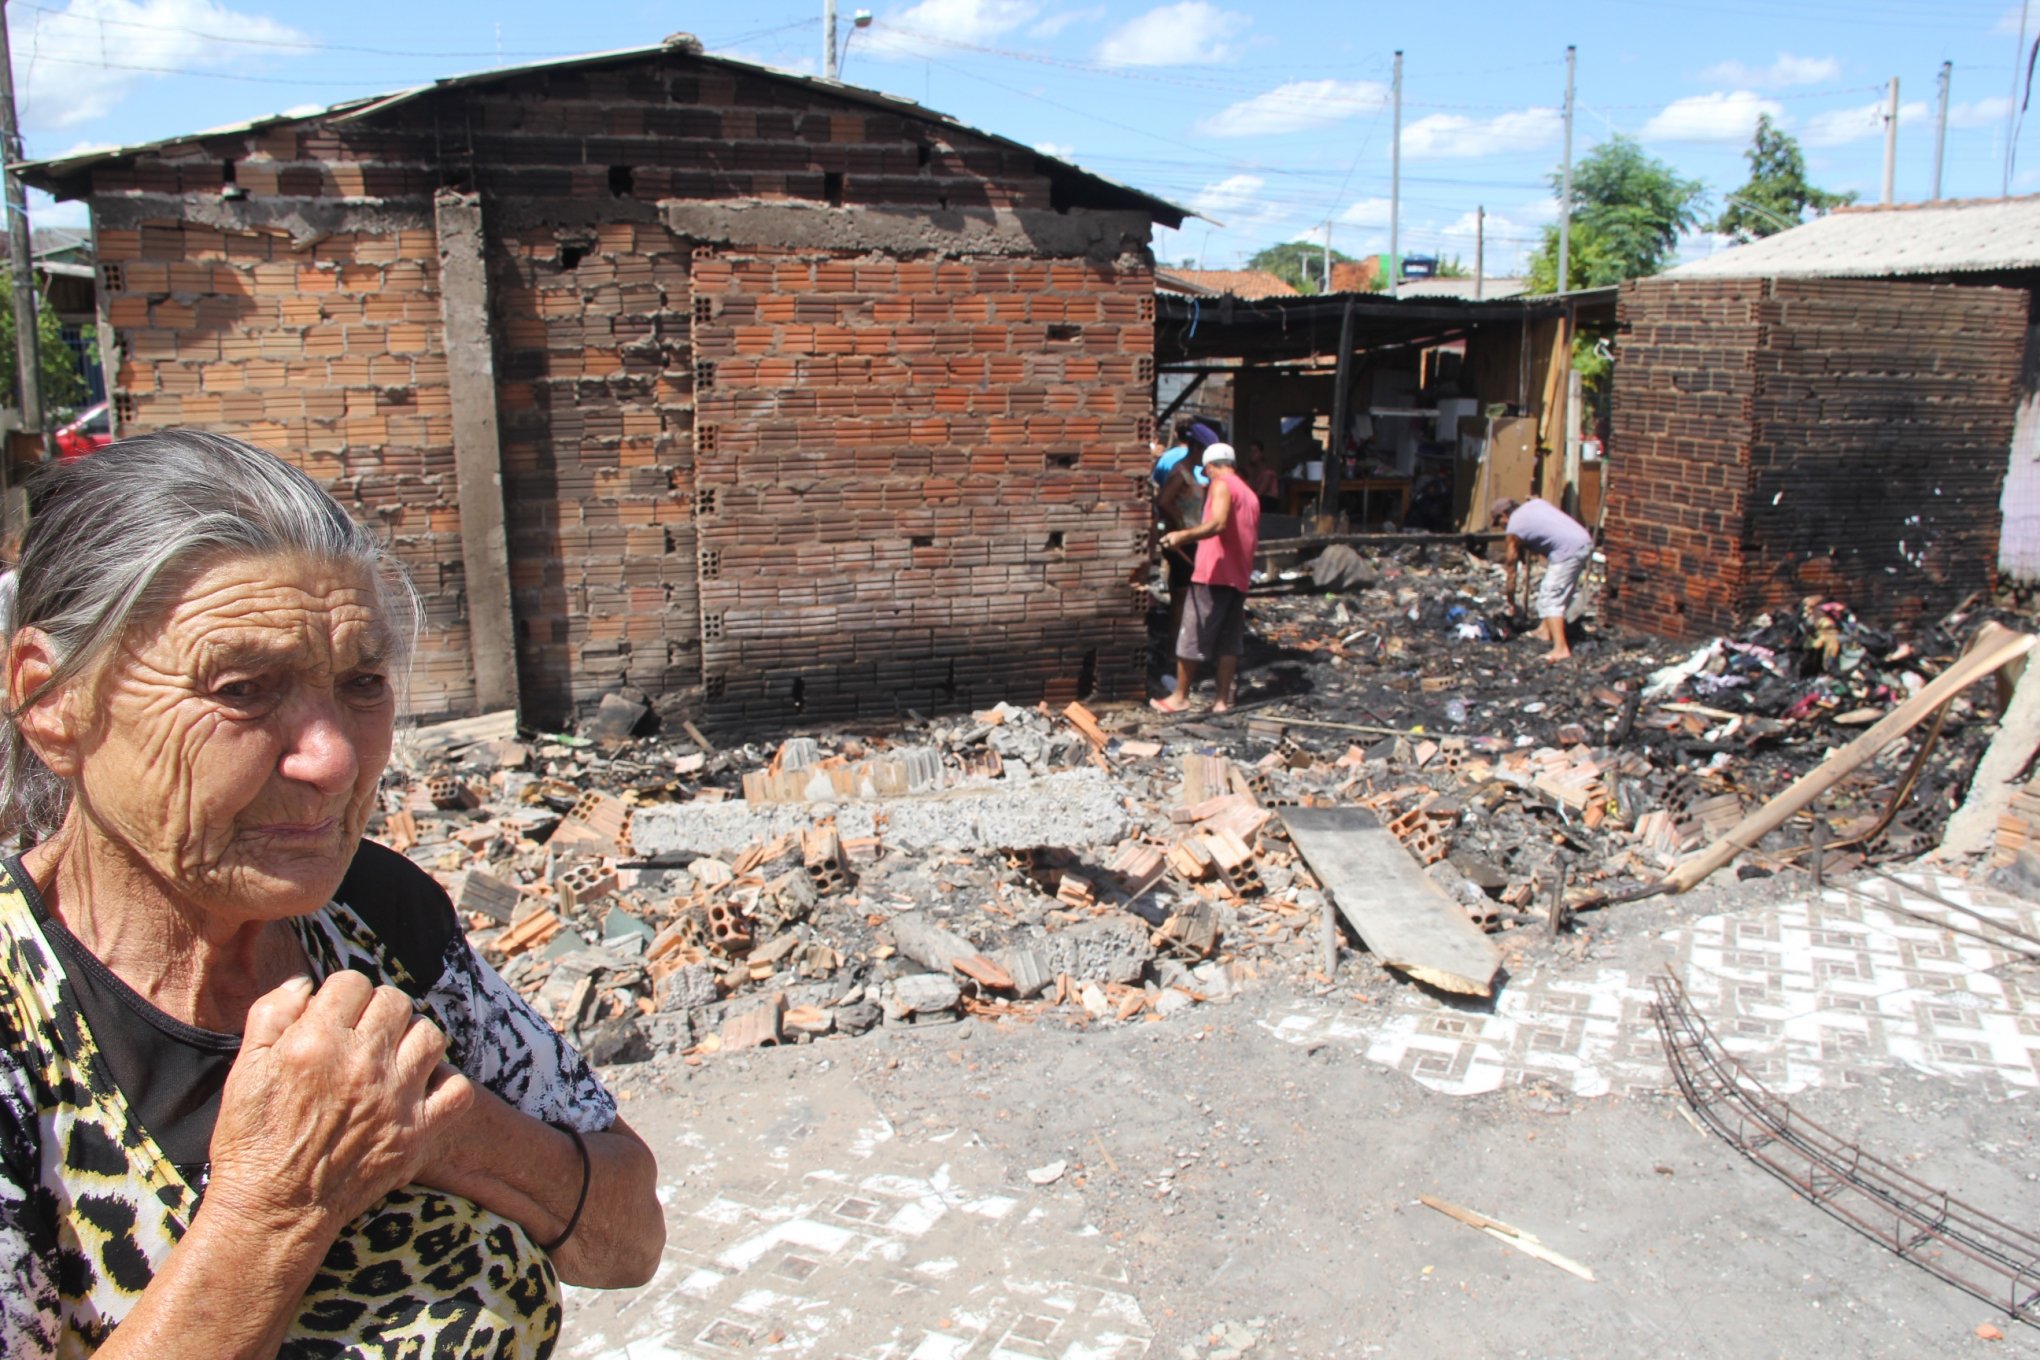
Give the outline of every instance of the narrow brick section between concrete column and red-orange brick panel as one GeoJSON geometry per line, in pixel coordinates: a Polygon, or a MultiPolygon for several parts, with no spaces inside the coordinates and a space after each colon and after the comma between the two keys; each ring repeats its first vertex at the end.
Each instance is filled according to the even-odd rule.
{"type": "Polygon", "coordinates": [[[687,255],[657,222],[490,241],[518,687],[539,714],[700,679],[687,255]]]}

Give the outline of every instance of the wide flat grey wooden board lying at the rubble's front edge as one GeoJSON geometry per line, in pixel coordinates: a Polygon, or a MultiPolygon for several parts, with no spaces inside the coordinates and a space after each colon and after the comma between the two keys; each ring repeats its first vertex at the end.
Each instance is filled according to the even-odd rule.
{"type": "Polygon", "coordinates": [[[1387,964],[1444,991],[1493,995],[1501,950],[1365,807],[1283,807],[1338,913],[1387,964]]]}

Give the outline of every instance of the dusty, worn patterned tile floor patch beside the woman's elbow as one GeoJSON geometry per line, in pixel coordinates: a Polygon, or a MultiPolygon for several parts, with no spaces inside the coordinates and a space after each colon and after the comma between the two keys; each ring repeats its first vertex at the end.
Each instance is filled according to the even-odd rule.
{"type": "MultiPolygon", "coordinates": [[[[1008,1187],[961,1130],[900,1136],[849,1077],[661,1138],[667,1252],[569,1291],[563,1356],[1134,1360],[1153,1329],[1067,1187],[1008,1187]]],[[[628,1113],[628,1111],[626,1111],[628,1113]]]]}

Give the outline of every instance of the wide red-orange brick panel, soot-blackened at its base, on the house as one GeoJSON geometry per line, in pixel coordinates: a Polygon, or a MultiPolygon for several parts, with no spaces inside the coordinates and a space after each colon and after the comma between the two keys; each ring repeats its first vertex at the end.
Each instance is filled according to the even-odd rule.
{"type": "Polygon", "coordinates": [[[708,253],[694,318],[712,718],[1138,693],[1146,267],[708,253]]]}

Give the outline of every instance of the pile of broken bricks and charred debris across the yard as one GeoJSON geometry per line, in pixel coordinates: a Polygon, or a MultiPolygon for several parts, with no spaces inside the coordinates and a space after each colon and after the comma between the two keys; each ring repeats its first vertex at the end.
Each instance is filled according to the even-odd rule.
{"type": "MultiPolygon", "coordinates": [[[[1285,809],[1373,812],[1514,964],[1561,948],[1569,903],[1659,881],[1954,652],[1809,604],[1677,659],[1601,638],[1561,671],[1497,642],[1497,575],[1391,559],[1361,595],[1257,597],[1261,697],[1224,716],[1000,705],[728,750],[632,738],[628,695],[577,736],[441,724],[412,734],[371,834],[598,1062],[961,1015],[1126,1024],[1257,979],[1332,985],[1348,903],[1285,809]]],[[[1834,826],[1773,836],[1744,873],[1803,860],[1807,830],[1834,871],[1920,848],[1979,716],[1956,699],[1940,765],[1867,767],[1828,799],[1834,826]]]]}

